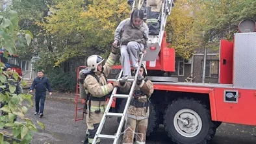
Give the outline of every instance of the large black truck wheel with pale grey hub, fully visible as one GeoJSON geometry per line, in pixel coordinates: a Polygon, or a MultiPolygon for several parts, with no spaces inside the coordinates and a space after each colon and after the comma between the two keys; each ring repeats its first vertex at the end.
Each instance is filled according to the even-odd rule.
{"type": "Polygon", "coordinates": [[[164,127],[175,143],[209,143],[216,126],[205,104],[194,99],[177,99],[168,105],[164,127]]]}

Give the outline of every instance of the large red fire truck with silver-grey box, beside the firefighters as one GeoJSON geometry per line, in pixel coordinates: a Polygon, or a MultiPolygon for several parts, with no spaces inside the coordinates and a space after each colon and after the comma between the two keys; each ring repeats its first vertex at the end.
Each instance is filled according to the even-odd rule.
{"type": "MultiPolygon", "coordinates": [[[[234,35],[234,42],[220,41],[218,84],[177,82],[177,79],[164,75],[175,71],[175,49],[168,47],[170,43],[166,42],[164,32],[166,15],[172,3],[164,1],[159,36],[149,36],[151,47],[147,49],[143,62],[147,78],[154,84],[147,136],[156,132],[159,125],[164,125],[166,134],[174,143],[209,143],[222,122],[255,126],[255,22],[254,25],[250,22],[252,28],[248,28],[248,23],[240,25],[243,30],[234,35]]],[[[113,67],[113,75],[118,74],[118,69],[122,66],[113,67]]],[[[77,112],[83,110],[78,108],[78,81],[75,102],[75,120],[78,121],[84,116],[77,118],[77,112]]],[[[113,107],[122,112],[123,103],[123,99],[116,99],[113,107]]]]}

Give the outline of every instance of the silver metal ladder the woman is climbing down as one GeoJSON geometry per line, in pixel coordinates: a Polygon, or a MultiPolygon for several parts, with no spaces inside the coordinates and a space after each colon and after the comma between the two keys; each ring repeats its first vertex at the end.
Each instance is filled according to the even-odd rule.
{"type": "MultiPolygon", "coordinates": [[[[139,0],[139,1],[134,0],[131,3],[132,11],[134,9],[138,8],[138,9],[140,9],[144,12],[144,17],[145,17],[144,20],[146,20],[146,14],[147,14],[146,4],[147,4],[146,0],[139,0]]],[[[172,10],[172,6],[173,6],[173,0],[164,0],[163,1],[162,9],[161,9],[160,16],[159,16],[159,21],[160,21],[159,35],[149,36],[149,45],[153,46],[153,47],[158,47],[159,51],[160,51],[160,45],[162,43],[162,38],[163,38],[163,35],[164,35],[164,28],[165,28],[165,25],[166,25],[167,16],[170,15],[170,12],[172,10]]],[[[143,60],[150,60],[152,62],[155,62],[154,58],[153,59],[150,58],[151,56],[148,56],[148,57],[147,57],[147,55],[144,57],[144,53],[140,53],[140,62],[139,62],[138,69],[140,69],[142,64],[145,63],[145,61],[143,61],[143,60]]],[[[123,72],[123,69],[121,70],[120,75],[118,75],[118,80],[117,80],[118,82],[120,82],[122,80],[122,78],[121,78],[122,77],[122,72],[123,72]]],[[[125,116],[127,114],[128,107],[129,107],[131,99],[133,97],[133,91],[134,91],[134,88],[135,88],[135,85],[136,85],[138,72],[139,71],[136,71],[135,76],[133,78],[129,78],[129,79],[125,80],[126,82],[133,82],[133,84],[131,86],[131,90],[129,91],[129,94],[116,94],[116,92],[118,90],[117,87],[114,88],[114,90],[112,91],[112,94],[110,95],[109,102],[107,104],[107,107],[106,107],[105,112],[103,114],[103,117],[101,119],[101,123],[99,124],[99,127],[97,128],[96,135],[94,137],[94,140],[92,141],[93,144],[96,143],[97,138],[112,139],[112,140],[114,140],[114,142],[113,142],[114,144],[118,143],[118,138],[120,137],[120,134],[121,134],[121,131],[122,131],[122,128],[123,128],[123,123],[125,122],[125,116]],[[115,98],[127,99],[126,104],[125,104],[125,108],[123,110],[123,113],[116,113],[116,112],[110,112],[109,111],[110,107],[112,105],[112,102],[114,101],[115,98]],[[114,134],[114,135],[101,134],[101,130],[103,129],[103,126],[105,124],[105,121],[106,121],[107,117],[121,117],[121,120],[120,120],[120,123],[119,123],[119,126],[118,126],[118,130],[117,130],[116,134],[114,134]]]]}

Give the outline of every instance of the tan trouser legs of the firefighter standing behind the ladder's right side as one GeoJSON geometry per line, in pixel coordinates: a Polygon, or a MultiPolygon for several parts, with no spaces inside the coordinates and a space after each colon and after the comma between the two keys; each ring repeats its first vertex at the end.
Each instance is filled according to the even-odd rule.
{"type": "Polygon", "coordinates": [[[125,132],[123,134],[123,144],[133,144],[134,136],[136,139],[136,144],[145,144],[147,134],[147,123],[148,118],[136,120],[127,117],[127,121],[125,124],[125,132]]]}

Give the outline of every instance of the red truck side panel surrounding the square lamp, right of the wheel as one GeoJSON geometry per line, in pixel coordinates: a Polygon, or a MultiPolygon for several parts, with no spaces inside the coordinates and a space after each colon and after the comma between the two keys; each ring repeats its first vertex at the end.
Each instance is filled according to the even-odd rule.
{"type": "Polygon", "coordinates": [[[256,90],[237,90],[238,103],[224,102],[224,88],[214,88],[218,121],[256,125],[256,90]]]}

